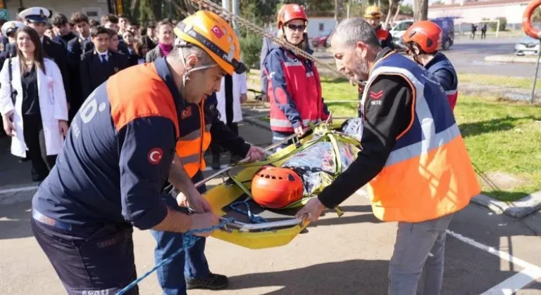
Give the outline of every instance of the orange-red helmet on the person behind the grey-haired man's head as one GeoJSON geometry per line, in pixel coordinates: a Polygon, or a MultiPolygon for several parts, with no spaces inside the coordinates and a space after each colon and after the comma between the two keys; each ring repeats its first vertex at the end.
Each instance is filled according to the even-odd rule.
{"type": "Polygon", "coordinates": [[[425,53],[435,53],[442,46],[442,28],[430,20],[421,20],[406,29],[402,40],[418,44],[425,53]]]}

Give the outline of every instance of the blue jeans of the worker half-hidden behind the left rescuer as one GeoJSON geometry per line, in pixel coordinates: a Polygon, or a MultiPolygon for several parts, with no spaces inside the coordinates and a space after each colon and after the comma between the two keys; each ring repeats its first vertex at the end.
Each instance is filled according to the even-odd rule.
{"type": "MultiPolygon", "coordinates": [[[[192,181],[193,183],[197,183],[202,179],[203,173],[199,171],[192,178],[192,181]]],[[[206,186],[201,185],[197,190],[202,194],[206,192],[206,186]]],[[[178,190],[173,191],[178,193],[178,190]]],[[[166,202],[170,209],[187,212],[187,209],[178,206],[177,201],[172,196],[169,196],[166,202]]],[[[150,232],[154,240],[156,240],[156,248],[154,249],[155,263],[169,258],[175,251],[182,247],[182,234],[178,232],[161,232],[156,230],[151,230],[150,232]]],[[[204,253],[205,243],[206,239],[201,237],[194,244],[194,247],[185,251],[185,255],[180,254],[173,261],[156,270],[158,283],[164,295],[186,295],[185,277],[187,279],[194,279],[209,275],[209,263],[207,263],[204,253]]]]}

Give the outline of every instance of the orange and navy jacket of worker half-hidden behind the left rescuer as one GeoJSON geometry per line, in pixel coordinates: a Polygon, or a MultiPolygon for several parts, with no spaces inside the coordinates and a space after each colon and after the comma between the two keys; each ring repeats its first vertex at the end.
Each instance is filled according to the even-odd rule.
{"type": "Polygon", "coordinates": [[[233,154],[246,157],[250,145],[233,133],[220,120],[216,108],[216,93],[202,100],[201,103],[185,103],[180,112],[180,138],[176,150],[184,169],[190,178],[206,168],[204,154],[211,144],[225,147],[233,154]]]}

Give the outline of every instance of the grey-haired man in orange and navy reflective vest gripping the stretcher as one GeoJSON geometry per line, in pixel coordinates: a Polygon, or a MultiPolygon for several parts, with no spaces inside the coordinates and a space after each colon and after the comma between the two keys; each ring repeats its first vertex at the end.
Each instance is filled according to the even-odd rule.
{"type": "Polygon", "coordinates": [[[480,192],[464,140],[438,81],[389,48],[362,18],[337,26],[331,40],[337,69],[363,92],[363,150],[297,217],[317,221],[364,185],[373,214],[397,221],[388,294],[440,294],[447,227],[480,192]],[[423,269],[424,268],[424,269],[423,269]]]}

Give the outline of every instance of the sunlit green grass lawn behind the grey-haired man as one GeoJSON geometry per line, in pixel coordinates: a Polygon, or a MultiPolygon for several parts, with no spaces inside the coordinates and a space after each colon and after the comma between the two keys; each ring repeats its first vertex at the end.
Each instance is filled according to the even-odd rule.
{"type": "MultiPolygon", "coordinates": [[[[509,86],[528,85],[528,79],[478,76],[463,75],[461,81],[470,77],[477,79],[475,81],[497,81],[509,86]]],[[[325,103],[333,117],[356,116],[356,103],[332,103],[333,100],[357,100],[356,87],[343,79],[322,79],[322,87],[325,103]]],[[[541,190],[539,105],[459,96],[454,112],[484,194],[502,201],[514,201],[541,190]],[[518,182],[502,183],[492,177],[494,173],[504,173],[518,182]]],[[[261,119],[268,122],[268,118],[261,119]]]]}

